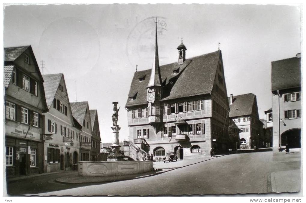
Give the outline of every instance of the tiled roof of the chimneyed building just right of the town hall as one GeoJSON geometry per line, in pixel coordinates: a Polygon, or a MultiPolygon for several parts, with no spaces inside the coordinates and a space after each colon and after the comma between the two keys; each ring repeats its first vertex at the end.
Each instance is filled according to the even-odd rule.
{"type": "Polygon", "coordinates": [[[255,102],[255,94],[241,94],[237,96],[233,96],[233,104],[230,104],[230,117],[251,115],[253,104],[255,102]]]}

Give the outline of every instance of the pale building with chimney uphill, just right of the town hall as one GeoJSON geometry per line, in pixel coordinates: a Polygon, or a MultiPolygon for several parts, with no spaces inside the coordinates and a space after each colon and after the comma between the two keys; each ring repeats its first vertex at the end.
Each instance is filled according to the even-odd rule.
{"type": "Polygon", "coordinates": [[[237,125],[241,148],[261,147],[261,129],[256,95],[242,94],[228,98],[230,104],[230,119],[237,125]]]}

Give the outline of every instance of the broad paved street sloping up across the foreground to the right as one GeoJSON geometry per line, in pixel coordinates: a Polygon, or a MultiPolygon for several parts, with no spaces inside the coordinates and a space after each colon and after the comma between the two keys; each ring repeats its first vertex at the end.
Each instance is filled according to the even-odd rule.
{"type": "MultiPolygon", "coordinates": [[[[86,186],[56,183],[55,178],[63,174],[50,174],[9,183],[8,193],[58,196],[268,193],[279,179],[276,176],[273,178],[276,182],[271,183],[271,174],[273,177],[283,173],[290,176],[289,170],[295,170],[295,174],[300,171],[299,152],[273,155],[271,151],[263,151],[225,155],[196,163],[199,161],[187,159],[177,163],[155,163],[155,168],[179,168],[146,178],[86,186]],[[187,163],[185,167],[176,166],[183,162],[187,163]]],[[[75,174],[70,172],[68,175],[75,174]]],[[[293,191],[299,190],[299,182],[290,184],[293,191]]]]}

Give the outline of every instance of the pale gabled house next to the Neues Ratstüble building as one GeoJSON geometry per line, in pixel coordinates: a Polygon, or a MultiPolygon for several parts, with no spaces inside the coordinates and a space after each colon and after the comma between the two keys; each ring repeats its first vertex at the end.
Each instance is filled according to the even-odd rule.
{"type": "Polygon", "coordinates": [[[64,75],[43,75],[48,112],[45,117],[45,173],[76,169],[82,127],[72,116],[64,75]],[[71,144],[72,143],[72,144],[71,144]]]}

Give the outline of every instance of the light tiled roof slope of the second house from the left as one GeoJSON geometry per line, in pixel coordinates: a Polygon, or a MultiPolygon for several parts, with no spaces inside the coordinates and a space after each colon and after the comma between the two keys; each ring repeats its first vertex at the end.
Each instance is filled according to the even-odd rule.
{"type": "Polygon", "coordinates": [[[58,89],[59,82],[62,79],[63,74],[50,74],[50,75],[43,75],[43,88],[45,90],[46,95],[46,102],[48,109],[52,105],[55,93],[58,89]]]}

